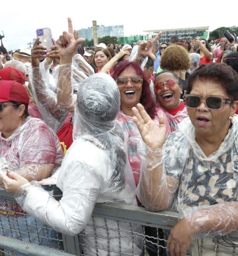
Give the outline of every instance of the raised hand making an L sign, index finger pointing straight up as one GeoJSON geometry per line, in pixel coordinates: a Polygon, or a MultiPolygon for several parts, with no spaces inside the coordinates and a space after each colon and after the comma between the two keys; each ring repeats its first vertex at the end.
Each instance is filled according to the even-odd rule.
{"type": "Polygon", "coordinates": [[[57,45],[59,48],[60,58],[67,58],[74,55],[75,48],[85,41],[84,38],[74,39],[74,31],[71,18],[68,18],[68,32],[64,31],[63,35],[59,36],[57,45]]]}

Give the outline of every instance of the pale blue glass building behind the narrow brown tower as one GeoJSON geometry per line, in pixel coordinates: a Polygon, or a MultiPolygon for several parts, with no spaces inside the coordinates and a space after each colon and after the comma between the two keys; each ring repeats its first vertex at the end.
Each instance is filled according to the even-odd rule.
{"type": "MultiPolygon", "coordinates": [[[[93,27],[88,27],[88,29],[79,29],[79,37],[85,38],[88,41],[94,39],[93,35],[93,27]]],[[[97,36],[98,38],[102,38],[106,35],[124,37],[124,26],[104,26],[104,25],[97,25],[97,36]]]]}

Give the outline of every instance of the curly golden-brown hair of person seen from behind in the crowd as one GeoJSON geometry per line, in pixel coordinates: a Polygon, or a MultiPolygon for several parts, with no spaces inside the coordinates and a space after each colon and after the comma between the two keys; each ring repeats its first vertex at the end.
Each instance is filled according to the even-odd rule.
{"type": "Polygon", "coordinates": [[[164,50],[160,60],[160,67],[163,70],[188,70],[190,68],[190,58],[184,47],[170,45],[164,50]]]}

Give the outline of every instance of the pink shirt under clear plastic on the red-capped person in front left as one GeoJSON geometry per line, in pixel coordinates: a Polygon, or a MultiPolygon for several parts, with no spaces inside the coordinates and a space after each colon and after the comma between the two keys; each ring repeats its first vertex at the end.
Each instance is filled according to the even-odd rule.
{"type": "Polygon", "coordinates": [[[10,169],[25,164],[54,164],[57,169],[63,152],[53,130],[40,119],[28,117],[10,137],[0,134],[0,159],[5,159],[10,169]]]}

